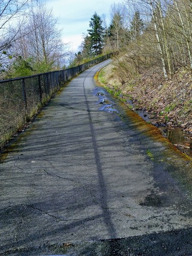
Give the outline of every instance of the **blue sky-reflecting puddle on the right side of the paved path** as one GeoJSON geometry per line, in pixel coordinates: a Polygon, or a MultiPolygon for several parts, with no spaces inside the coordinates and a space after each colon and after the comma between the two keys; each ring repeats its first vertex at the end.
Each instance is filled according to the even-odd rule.
{"type": "Polygon", "coordinates": [[[106,98],[105,92],[99,88],[95,88],[93,90],[94,96],[99,97],[99,101],[96,104],[101,104],[99,111],[111,112],[111,113],[118,113],[118,111],[114,108],[114,103],[111,102],[109,99],[106,98]]]}

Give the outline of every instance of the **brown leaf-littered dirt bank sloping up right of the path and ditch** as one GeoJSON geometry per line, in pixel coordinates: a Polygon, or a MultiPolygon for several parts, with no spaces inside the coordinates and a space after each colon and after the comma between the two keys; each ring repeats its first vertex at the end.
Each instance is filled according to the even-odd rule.
{"type": "Polygon", "coordinates": [[[180,69],[170,80],[144,73],[122,85],[113,70],[110,64],[99,73],[99,82],[113,94],[120,95],[122,101],[129,96],[154,118],[192,133],[192,74],[180,69]]]}

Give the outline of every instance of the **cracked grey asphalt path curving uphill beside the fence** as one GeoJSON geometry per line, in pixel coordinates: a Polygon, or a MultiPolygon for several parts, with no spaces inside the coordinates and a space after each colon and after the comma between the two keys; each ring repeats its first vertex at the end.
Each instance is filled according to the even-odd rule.
{"type": "Polygon", "coordinates": [[[109,62],[73,79],[5,149],[3,255],[192,254],[189,197],[146,154],[164,146],[99,111],[93,76],[109,62]]]}

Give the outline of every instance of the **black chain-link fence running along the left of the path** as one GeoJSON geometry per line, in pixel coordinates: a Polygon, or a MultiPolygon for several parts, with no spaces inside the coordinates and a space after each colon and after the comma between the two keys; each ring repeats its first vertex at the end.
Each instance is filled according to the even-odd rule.
{"type": "Polygon", "coordinates": [[[67,70],[0,81],[0,148],[61,87],[111,53],[67,70]]]}

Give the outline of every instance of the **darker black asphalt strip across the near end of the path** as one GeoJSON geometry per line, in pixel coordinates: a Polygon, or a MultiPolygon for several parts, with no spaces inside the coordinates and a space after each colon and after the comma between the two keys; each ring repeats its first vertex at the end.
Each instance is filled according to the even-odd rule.
{"type": "Polygon", "coordinates": [[[38,256],[192,256],[192,228],[99,241],[42,244],[0,255],[38,256]]]}

